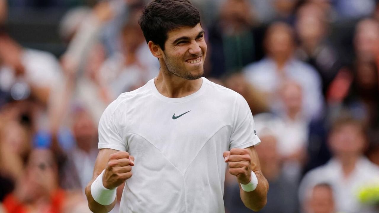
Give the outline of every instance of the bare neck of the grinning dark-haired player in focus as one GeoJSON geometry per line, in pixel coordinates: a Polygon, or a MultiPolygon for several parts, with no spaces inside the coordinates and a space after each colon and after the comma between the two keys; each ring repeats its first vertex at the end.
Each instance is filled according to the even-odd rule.
{"type": "Polygon", "coordinates": [[[202,78],[186,80],[171,74],[161,66],[157,78],[154,79],[158,91],[169,98],[181,98],[198,91],[202,85],[202,78]]]}

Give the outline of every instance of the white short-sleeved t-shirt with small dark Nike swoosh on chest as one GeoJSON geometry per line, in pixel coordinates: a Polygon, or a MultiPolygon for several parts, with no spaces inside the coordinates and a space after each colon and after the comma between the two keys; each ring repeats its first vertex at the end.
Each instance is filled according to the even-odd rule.
{"type": "Polygon", "coordinates": [[[243,97],[202,78],[186,97],[160,94],[153,79],[121,94],[103,113],[99,149],[135,157],[121,213],[222,213],[222,153],[260,143],[243,97]]]}

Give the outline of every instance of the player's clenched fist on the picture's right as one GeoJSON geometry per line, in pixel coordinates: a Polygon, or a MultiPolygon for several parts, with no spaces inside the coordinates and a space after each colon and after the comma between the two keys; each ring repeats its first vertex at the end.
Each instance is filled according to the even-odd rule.
{"type": "Polygon", "coordinates": [[[251,153],[248,149],[233,148],[222,153],[229,164],[229,173],[237,177],[238,183],[247,184],[251,180],[251,153]]]}

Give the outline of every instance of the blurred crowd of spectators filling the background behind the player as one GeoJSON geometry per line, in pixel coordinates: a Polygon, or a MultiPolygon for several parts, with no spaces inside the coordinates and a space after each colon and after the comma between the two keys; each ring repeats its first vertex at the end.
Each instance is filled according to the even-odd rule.
{"type": "MultiPolygon", "coordinates": [[[[159,71],[138,25],[148,2],[0,0],[0,213],[90,212],[100,116],[159,71]],[[45,32],[64,52],[17,41],[9,8],[65,8],[58,32],[45,32]]],[[[260,212],[379,212],[379,190],[365,194],[379,189],[379,1],[192,2],[204,76],[254,115],[270,185],[260,212]]],[[[229,174],[224,201],[227,213],[250,212],[229,174]]]]}

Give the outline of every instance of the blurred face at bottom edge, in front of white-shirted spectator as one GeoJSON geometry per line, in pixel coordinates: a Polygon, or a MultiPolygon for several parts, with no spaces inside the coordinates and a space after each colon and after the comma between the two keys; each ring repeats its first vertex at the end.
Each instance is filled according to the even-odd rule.
{"type": "Polygon", "coordinates": [[[330,186],[317,185],[307,200],[307,213],[334,213],[334,196],[330,186]]]}

